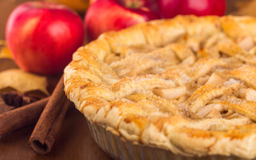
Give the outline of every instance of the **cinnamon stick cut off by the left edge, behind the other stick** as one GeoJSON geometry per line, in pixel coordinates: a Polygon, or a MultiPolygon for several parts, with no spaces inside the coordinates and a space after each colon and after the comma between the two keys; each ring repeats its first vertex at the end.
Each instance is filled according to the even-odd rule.
{"type": "Polygon", "coordinates": [[[0,135],[36,122],[49,98],[0,114],[0,135]]]}

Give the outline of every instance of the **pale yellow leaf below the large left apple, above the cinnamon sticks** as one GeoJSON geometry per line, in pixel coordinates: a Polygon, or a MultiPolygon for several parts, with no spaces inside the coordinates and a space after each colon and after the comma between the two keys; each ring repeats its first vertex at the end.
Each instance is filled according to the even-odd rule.
{"type": "Polygon", "coordinates": [[[40,90],[46,95],[49,95],[46,77],[30,74],[20,69],[9,69],[0,72],[0,79],[0,90],[11,87],[21,93],[40,90]]]}

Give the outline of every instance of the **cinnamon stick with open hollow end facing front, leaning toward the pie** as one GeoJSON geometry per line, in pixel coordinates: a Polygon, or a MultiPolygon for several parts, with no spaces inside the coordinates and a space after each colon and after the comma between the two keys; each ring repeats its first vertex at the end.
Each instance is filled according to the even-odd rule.
{"type": "Polygon", "coordinates": [[[62,76],[29,138],[29,146],[38,154],[50,152],[68,106],[70,106],[70,101],[63,89],[62,76]]]}

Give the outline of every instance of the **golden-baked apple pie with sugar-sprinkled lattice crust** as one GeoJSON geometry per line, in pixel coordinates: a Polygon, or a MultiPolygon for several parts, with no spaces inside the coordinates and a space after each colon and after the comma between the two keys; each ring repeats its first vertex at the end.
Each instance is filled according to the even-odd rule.
{"type": "Polygon", "coordinates": [[[113,134],[152,152],[252,159],[255,43],[256,19],[246,16],[177,16],[109,31],[74,53],[65,92],[108,131],[97,138],[106,152],[115,151],[106,142],[113,134]]]}

